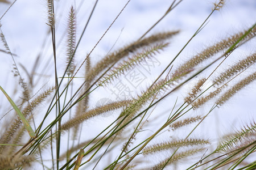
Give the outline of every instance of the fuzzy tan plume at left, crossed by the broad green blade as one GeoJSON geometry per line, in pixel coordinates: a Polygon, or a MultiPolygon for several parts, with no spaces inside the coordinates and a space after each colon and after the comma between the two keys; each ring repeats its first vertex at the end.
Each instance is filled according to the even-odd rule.
{"type": "MultiPolygon", "coordinates": [[[[28,103],[27,106],[22,110],[23,116],[27,118],[35,109],[35,107],[40,103],[42,103],[42,101],[44,101],[46,97],[48,97],[54,89],[55,89],[54,87],[48,88],[46,91],[44,91],[34,100],[32,100],[31,103],[28,103]]],[[[15,120],[13,120],[13,122],[10,124],[9,129],[6,130],[6,132],[1,137],[0,142],[10,143],[11,141],[13,141],[12,139],[14,139],[16,135],[19,136],[20,134],[16,134],[16,131],[20,128],[20,125],[22,125],[22,121],[20,120],[20,118],[15,118],[15,120]]],[[[13,142],[18,142],[18,141],[13,141],[13,142]]],[[[2,151],[2,149],[3,149],[3,146],[0,146],[0,151],[2,151]]]]}

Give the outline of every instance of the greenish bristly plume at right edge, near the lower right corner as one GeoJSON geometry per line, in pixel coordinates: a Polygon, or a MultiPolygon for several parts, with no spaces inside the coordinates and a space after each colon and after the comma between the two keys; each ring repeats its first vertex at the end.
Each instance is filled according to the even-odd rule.
{"type": "Polygon", "coordinates": [[[247,138],[249,135],[255,135],[255,132],[255,122],[251,123],[250,125],[244,126],[243,129],[237,131],[235,135],[232,135],[226,141],[221,142],[214,152],[226,151],[234,145],[237,145],[238,142],[242,142],[242,140],[247,138]]]}

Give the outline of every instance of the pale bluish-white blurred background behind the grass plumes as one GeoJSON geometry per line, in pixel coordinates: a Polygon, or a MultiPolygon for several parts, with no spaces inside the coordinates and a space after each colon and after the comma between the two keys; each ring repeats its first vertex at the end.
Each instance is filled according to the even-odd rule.
{"type": "MultiPolygon", "coordinates": [[[[95,1],[54,1],[56,13],[56,42],[57,42],[57,66],[59,75],[62,76],[65,70],[65,50],[67,46],[67,18],[71,6],[77,11],[77,40],[79,39],[90,11],[95,1]]],[[[0,16],[5,14],[10,3],[0,2],[0,16]]],[[[77,49],[75,63],[79,67],[84,61],[86,54],[93,49],[100,40],[109,25],[122,10],[127,1],[105,0],[99,1],[93,12],[92,19],[81,39],[77,49]]],[[[106,54],[113,52],[123,45],[136,41],[154,24],[171,5],[170,0],[131,0],[122,14],[118,17],[100,43],[93,50],[91,56],[92,64],[100,61],[106,54]]],[[[180,30],[179,35],[171,39],[170,47],[161,52],[153,61],[149,61],[150,66],[139,67],[142,74],[143,83],[133,84],[128,79],[123,78],[121,83],[129,84],[129,92],[118,91],[118,81],[113,86],[108,86],[99,90],[97,95],[90,96],[92,105],[101,105],[117,98],[137,96],[141,90],[145,90],[154,81],[154,78],[168,65],[172,58],[179,52],[184,44],[190,39],[193,33],[204,22],[214,7],[212,0],[183,0],[174,8],[148,35],[155,32],[180,30]],[[152,71],[154,69],[154,71],[152,71]],[[108,95],[106,95],[108,94],[108,95]],[[106,97],[107,96],[107,97],[106,97]]],[[[34,80],[31,82],[38,91],[43,84],[54,84],[54,63],[52,56],[51,35],[49,33],[47,1],[43,0],[18,0],[9,11],[1,18],[1,29],[11,52],[14,54],[15,62],[18,65],[20,74],[25,80],[33,74],[34,80]]],[[[189,43],[177,59],[176,66],[192,57],[206,46],[224,39],[238,31],[243,31],[251,27],[256,22],[256,1],[255,0],[227,0],[220,11],[214,12],[209,22],[203,30],[189,43]]],[[[0,85],[10,96],[19,97],[18,79],[14,78],[13,60],[9,54],[5,53],[3,44],[0,45],[0,85]],[[16,89],[16,90],[14,90],[16,89]]],[[[246,57],[256,50],[256,40],[253,39],[237,49],[230,56],[223,66],[232,65],[236,59],[246,57]]],[[[251,69],[255,70],[255,66],[251,69]]],[[[221,70],[221,69],[220,69],[221,70]]],[[[245,73],[246,74],[246,73],[245,73]]],[[[206,76],[207,72],[199,76],[206,76]]],[[[77,77],[84,76],[84,67],[77,74],[77,77]]],[[[83,80],[76,78],[75,83],[80,84],[83,80]]],[[[120,82],[119,82],[120,83],[120,82]]],[[[179,91],[164,100],[160,104],[159,113],[170,111],[177,97],[183,101],[183,97],[195,82],[186,84],[184,91],[179,91]]],[[[255,82],[239,92],[236,97],[228,101],[221,109],[215,109],[213,113],[204,121],[201,128],[195,135],[216,139],[222,134],[234,129],[239,129],[243,124],[255,120],[256,88],[255,82]],[[210,126],[209,126],[210,124],[210,126]],[[208,128],[205,128],[208,127],[208,128]],[[209,127],[214,130],[211,131],[209,127]],[[217,127],[217,128],[216,128],[217,127]],[[231,127],[231,128],[230,128],[231,127]],[[235,128],[236,127],[236,128],[235,128]]],[[[0,104],[7,103],[3,94],[0,94],[0,104]]],[[[209,108],[212,104],[209,104],[209,108]]],[[[197,110],[197,113],[207,113],[208,107],[197,110]]],[[[0,108],[0,113],[6,113],[7,108],[0,108]]],[[[108,115],[107,115],[108,116],[108,115]]],[[[104,122],[104,120],[102,120],[104,122]]],[[[2,124],[2,122],[0,122],[2,124]]],[[[184,130],[185,134],[185,130],[184,130]]],[[[179,135],[184,135],[179,134],[179,135]]]]}

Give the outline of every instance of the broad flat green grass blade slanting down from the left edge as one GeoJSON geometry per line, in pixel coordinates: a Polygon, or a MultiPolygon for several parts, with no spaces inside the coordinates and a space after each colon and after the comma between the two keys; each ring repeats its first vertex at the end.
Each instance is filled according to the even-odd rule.
{"type": "Polygon", "coordinates": [[[28,134],[30,135],[30,137],[35,138],[34,130],[31,128],[30,124],[28,124],[28,122],[27,122],[26,118],[23,116],[22,112],[20,112],[19,108],[16,106],[14,101],[11,100],[11,97],[5,92],[5,90],[3,90],[3,88],[1,86],[0,86],[0,89],[3,92],[3,94],[5,94],[7,100],[10,102],[11,106],[14,108],[14,110],[18,114],[20,120],[22,120],[22,122],[23,122],[25,128],[27,129],[28,134]]]}

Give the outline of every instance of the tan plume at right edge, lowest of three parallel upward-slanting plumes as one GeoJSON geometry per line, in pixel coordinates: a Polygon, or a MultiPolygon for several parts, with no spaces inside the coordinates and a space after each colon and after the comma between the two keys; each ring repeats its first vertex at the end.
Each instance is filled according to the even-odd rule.
{"type": "Polygon", "coordinates": [[[256,79],[256,72],[254,72],[253,74],[250,74],[249,76],[247,76],[246,78],[242,79],[240,82],[238,82],[237,84],[235,84],[232,88],[230,88],[228,91],[226,91],[221,97],[220,99],[218,99],[216,101],[217,105],[222,105],[224,104],[227,100],[230,99],[230,97],[232,97],[234,94],[236,94],[238,91],[240,91],[243,87],[245,87],[246,85],[250,84],[251,82],[253,82],[256,79]]]}

